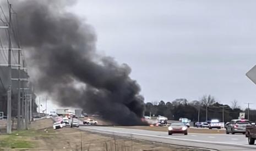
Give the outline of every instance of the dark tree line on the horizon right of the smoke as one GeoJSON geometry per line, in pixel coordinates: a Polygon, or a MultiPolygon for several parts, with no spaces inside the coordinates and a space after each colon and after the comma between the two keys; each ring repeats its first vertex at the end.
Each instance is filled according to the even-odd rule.
{"type": "MultiPolygon", "coordinates": [[[[238,119],[239,113],[245,112],[246,119],[248,108],[242,110],[238,101],[234,100],[231,105],[221,104],[211,95],[204,95],[200,100],[188,101],[186,98],[179,98],[172,102],[148,102],[145,104],[145,115],[162,115],[170,120],[188,118],[191,121],[206,121],[211,119],[223,120],[225,123],[232,119],[238,119]],[[224,117],[223,117],[224,114],[224,117]]],[[[249,120],[256,120],[256,110],[249,110],[249,120]]]]}

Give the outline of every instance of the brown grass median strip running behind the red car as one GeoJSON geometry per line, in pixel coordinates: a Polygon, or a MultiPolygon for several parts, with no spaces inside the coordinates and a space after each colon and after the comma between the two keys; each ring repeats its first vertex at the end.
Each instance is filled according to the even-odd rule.
{"type": "MultiPolygon", "coordinates": [[[[150,131],[168,131],[167,126],[115,126],[126,129],[140,129],[140,130],[150,130],[150,131]]],[[[201,128],[188,128],[188,133],[225,133],[225,130],[217,130],[217,129],[201,129],[201,128]]]]}

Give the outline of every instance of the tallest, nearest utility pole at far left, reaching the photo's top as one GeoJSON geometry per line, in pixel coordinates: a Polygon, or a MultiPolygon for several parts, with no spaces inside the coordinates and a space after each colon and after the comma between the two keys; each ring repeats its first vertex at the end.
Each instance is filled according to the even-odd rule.
{"type": "Polygon", "coordinates": [[[7,92],[7,133],[12,133],[12,41],[10,38],[11,22],[12,22],[12,4],[8,3],[9,7],[9,27],[8,27],[8,68],[9,68],[9,88],[7,92]]]}

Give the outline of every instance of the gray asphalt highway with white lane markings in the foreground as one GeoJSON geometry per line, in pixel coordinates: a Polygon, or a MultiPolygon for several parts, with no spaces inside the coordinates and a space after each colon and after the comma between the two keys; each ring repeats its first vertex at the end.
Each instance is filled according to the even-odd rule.
{"type": "Polygon", "coordinates": [[[256,145],[248,145],[247,138],[241,134],[226,135],[189,133],[187,136],[169,136],[167,133],[167,129],[166,132],[125,129],[107,126],[80,126],[79,129],[100,133],[108,133],[111,135],[133,137],[148,141],[175,144],[178,146],[208,148],[213,150],[256,150],[256,145]]]}

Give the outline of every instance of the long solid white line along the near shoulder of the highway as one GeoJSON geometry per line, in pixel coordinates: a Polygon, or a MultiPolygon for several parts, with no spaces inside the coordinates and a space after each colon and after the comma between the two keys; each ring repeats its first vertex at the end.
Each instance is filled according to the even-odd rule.
{"type": "Polygon", "coordinates": [[[189,140],[184,138],[176,138],[176,137],[166,137],[166,136],[156,136],[156,135],[147,135],[142,133],[131,133],[131,132],[118,132],[118,131],[110,131],[110,130],[102,130],[96,129],[91,127],[80,127],[83,129],[91,129],[91,130],[98,130],[98,131],[105,131],[105,132],[112,132],[112,133],[123,133],[129,135],[138,135],[138,136],[147,136],[147,137],[158,137],[158,138],[167,138],[170,140],[178,140],[178,141],[190,141],[190,142],[198,142],[198,143],[209,143],[209,144],[223,144],[223,145],[231,145],[236,147],[246,147],[246,148],[256,148],[256,146],[249,146],[247,144],[234,144],[234,143],[225,143],[225,142],[213,142],[213,141],[201,141],[201,140],[189,140]]]}

